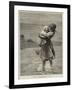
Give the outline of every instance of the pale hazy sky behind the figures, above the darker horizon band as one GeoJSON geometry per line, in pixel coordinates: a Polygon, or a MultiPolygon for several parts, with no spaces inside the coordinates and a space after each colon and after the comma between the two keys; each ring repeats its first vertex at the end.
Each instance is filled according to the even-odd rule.
{"type": "Polygon", "coordinates": [[[19,11],[20,33],[24,34],[25,39],[32,39],[38,42],[38,34],[44,25],[55,23],[56,34],[55,41],[62,41],[62,14],[61,12],[44,11],[19,11]]]}

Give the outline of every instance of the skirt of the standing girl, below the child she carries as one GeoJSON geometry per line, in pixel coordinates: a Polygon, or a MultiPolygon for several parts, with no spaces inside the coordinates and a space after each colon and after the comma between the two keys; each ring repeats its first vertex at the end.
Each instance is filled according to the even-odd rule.
{"type": "Polygon", "coordinates": [[[51,49],[52,42],[49,41],[46,44],[41,46],[40,49],[40,58],[41,60],[52,60],[53,59],[53,53],[51,49]]]}

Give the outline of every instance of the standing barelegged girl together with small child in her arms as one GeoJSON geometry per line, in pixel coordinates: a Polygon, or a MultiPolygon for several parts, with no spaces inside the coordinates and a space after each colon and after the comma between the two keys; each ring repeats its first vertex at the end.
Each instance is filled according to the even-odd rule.
{"type": "Polygon", "coordinates": [[[42,32],[39,35],[41,42],[39,46],[40,50],[40,58],[42,60],[42,70],[45,71],[46,61],[50,62],[50,66],[52,66],[52,60],[55,58],[55,51],[53,48],[53,43],[51,38],[55,34],[56,25],[50,24],[49,26],[44,26],[42,32]]]}

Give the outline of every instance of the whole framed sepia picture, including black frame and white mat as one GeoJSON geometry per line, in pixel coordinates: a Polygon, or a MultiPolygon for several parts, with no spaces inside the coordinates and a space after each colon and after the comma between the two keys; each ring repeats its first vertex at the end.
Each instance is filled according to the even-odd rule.
{"type": "Polygon", "coordinates": [[[9,88],[70,85],[70,5],[9,2],[9,88]]]}

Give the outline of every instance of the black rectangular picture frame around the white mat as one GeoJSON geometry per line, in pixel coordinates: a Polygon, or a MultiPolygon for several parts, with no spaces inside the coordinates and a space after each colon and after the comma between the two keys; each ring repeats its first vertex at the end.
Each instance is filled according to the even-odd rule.
{"type": "Polygon", "coordinates": [[[9,88],[29,88],[29,87],[45,87],[45,86],[61,86],[70,85],[70,5],[64,4],[48,4],[33,2],[9,2],[9,88]],[[14,6],[34,6],[34,7],[50,7],[67,9],[67,81],[52,83],[36,83],[36,84],[15,84],[14,77],[14,6]]]}

